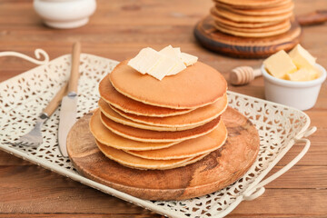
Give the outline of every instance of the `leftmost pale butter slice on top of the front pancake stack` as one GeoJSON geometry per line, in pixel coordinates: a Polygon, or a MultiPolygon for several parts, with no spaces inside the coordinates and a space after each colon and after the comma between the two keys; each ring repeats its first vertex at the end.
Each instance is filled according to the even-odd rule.
{"type": "Polygon", "coordinates": [[[149,73],[154,69],[156,64],[161,61],[163,54],[158,53],[153,48],[147,47],[142,49],[133,59],[128,62],[128,65],[133,67],[141,74],[149,73]]]}

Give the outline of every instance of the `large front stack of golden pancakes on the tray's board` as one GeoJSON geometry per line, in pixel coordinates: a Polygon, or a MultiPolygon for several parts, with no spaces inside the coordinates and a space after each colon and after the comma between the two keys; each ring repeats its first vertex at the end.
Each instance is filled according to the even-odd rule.
{"type": "Polygon", "coordinates": [[[104,155],[125,166],[181,167],[224,144],[226,89],[223,75],[201,62],[159,81],[124,61],[99,84],[90,130],[104,155]]]}

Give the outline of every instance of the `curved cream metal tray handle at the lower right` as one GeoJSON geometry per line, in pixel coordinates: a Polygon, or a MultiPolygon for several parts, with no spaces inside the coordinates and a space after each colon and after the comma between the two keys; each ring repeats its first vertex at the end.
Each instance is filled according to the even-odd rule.
{"type": "Polygon", "coordinates": [[[252,200],[256,199],[257,197],[261,196],[265,191],[264,185],[266,185],[267,183],[271,183],[273,180],[275,180],[279,176],[281,176],[282,173],[287,172],[288,170],[290,170],[292,168],[293,165],[298,163],[302,159],[304,154],[306,154],[308,152],[308,150],[310,148],[310,144],[311,144],[309,139],[303,139],[302,137],[307,137],[307,136],[313,134],[316,130],[317,130],[317,127],[312,126],[312,128],[306,130],[304,133],[300,134],[299,136],[296,136],[294,138],[295,144],[305,143],[301,153],[298,154],[294,159],[292,159],[292,161],[290,163],[287,163],[284,167],[282,167],[281,170],[279,170],[276,173],[273,173],[271,176],[269,176],[262,182],[257,183],[252,189],[245,191],[243,193],[243,200],[252,201],[252,200]]]}

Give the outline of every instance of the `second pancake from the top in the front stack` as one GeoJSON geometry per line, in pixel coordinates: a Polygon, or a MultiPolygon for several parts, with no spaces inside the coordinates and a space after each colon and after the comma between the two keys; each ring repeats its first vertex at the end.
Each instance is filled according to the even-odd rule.
{"type": "Polygon", "coordinates": [[[146,115],[146,116],[171,116],[178,114],[185,114],[191,111],[191,109],[171,109],[158,107],[150,104],[144,104],[137,102],[131,98],[120,94],[114,89],[113,84],[110,82],[109,74],[104,77],[104,79],[99,84],[99,93],[105,102],[114,105],[114,107],[120,110],[136,115],[146,115]]]}

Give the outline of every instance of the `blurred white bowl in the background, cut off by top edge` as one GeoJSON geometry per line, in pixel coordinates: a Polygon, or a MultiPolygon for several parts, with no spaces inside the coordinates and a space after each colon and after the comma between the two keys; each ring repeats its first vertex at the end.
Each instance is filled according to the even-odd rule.
{"type": "Polygon", "coordinates": [[[34,0],[35,12],[54,28],[69,29],[86,25],[94,14],[95,0],[34,0]]]}

